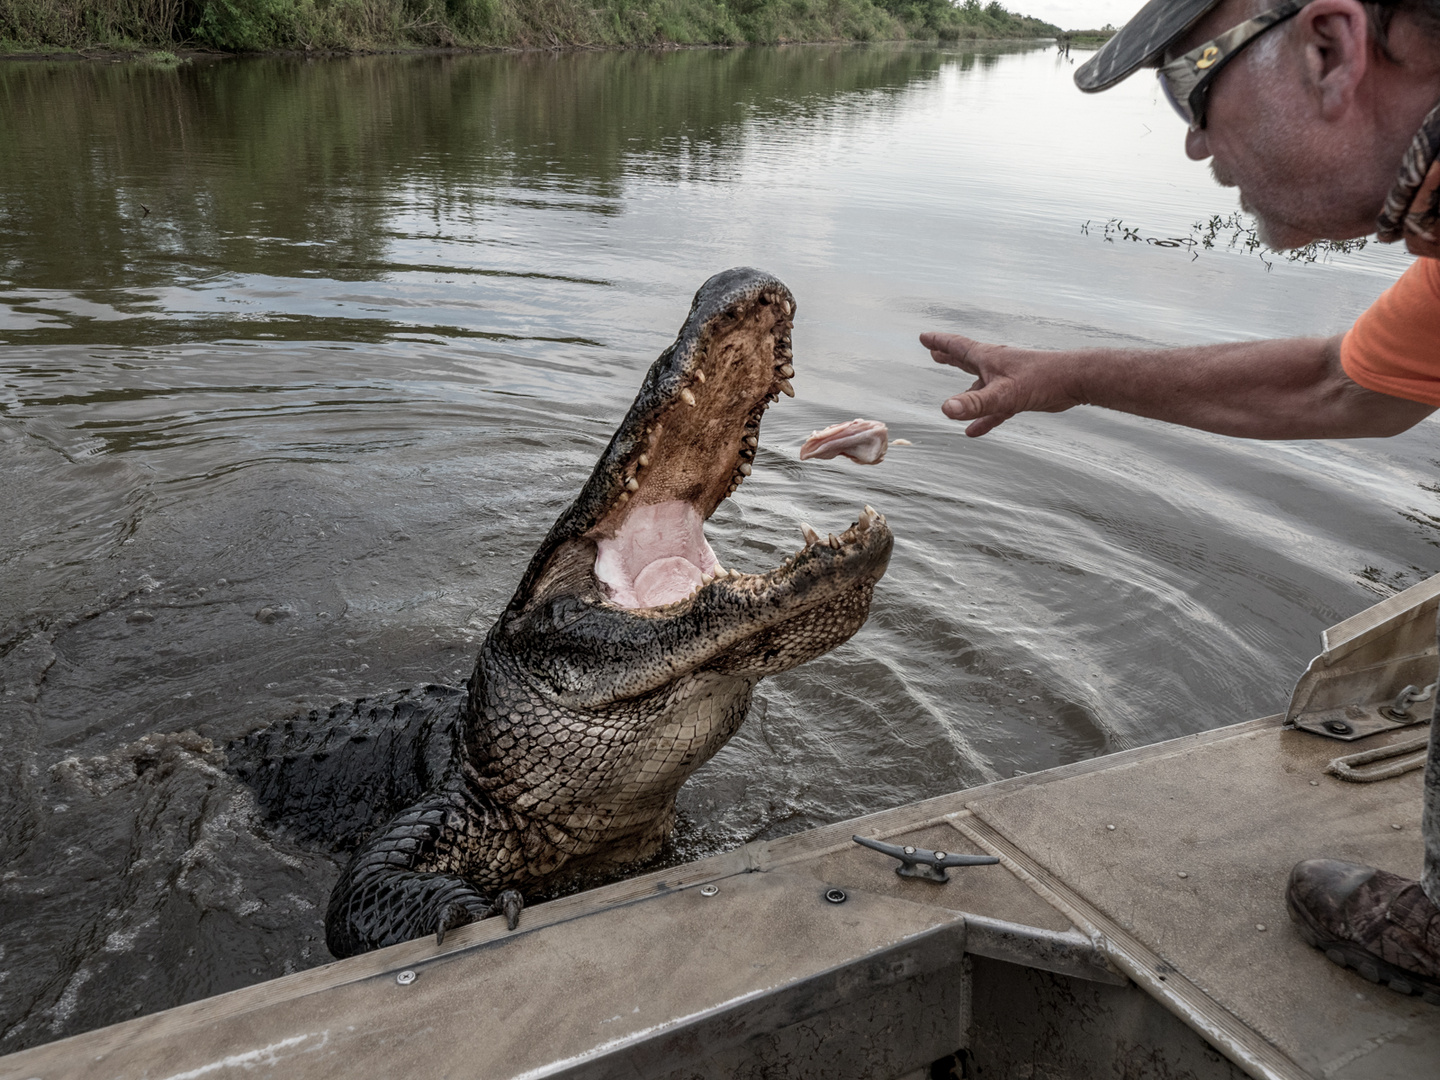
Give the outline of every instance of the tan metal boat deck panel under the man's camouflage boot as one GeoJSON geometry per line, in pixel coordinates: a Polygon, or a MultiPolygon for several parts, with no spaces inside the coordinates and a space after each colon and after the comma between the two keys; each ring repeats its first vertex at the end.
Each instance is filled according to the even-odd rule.
{"type": "Polygon", "coordinates": [[[1426,1076],[1440,1009],[1371,986],[1290,932],[1284,881],[1303,858],[1420,873],[1420,775],[1342,783],[1325,773],[1333,746],[1243,724],[981,796],[968,829],[1251,1074],[1426,1076]]]}

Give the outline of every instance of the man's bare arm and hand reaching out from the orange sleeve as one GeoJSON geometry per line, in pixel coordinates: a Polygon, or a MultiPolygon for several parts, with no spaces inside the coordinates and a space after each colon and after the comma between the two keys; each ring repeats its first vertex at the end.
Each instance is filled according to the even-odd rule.
{"type": "Polygon", "coordinates": [[[992,431],[1020,412],[1076,405],[1149,416],[1248,439],[1358,439],[1398,435],[1434,408],[1375,393],[1341,367],[1341,338],[1297,337],[1195,348],[1044,351],[920,334],[937,363],[976,376],[942,406],[992,431]]]}

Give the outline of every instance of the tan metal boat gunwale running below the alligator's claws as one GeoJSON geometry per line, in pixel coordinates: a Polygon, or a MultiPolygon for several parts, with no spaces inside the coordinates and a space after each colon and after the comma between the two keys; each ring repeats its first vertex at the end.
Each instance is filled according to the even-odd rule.
{"type": "Polygon", "coordinates": [[[700,1067],[757,1037],[783,1048],[786,1027],[847,1005],[877,1031],[884,1001],[945,1005],[929,1041],[877,1051],[897,1061],[959,1038],[953,979],[904,986],[939,978],[962,950],[952,912],[857,890],[831,904],[811,877],[742,873],[711,897],[652,893],[471,948],[380,950],[331,965],[356,978],[318,992],[297,976],[268,996],[196,1002],[0,1058],[0,1077],[223,1076],[246,1063],[297,1080],[636,1076],[636,1063],[700,1067]]]}

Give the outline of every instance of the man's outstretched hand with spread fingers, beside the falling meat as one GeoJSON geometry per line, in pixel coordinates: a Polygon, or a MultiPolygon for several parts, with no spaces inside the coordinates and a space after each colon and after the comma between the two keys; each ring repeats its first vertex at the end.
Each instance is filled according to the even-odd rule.
{"type": "Polygon", "coordinates": [[[975,376],[969,390],[940,406],[952,420],[971,420],[965,433],[985,435],[1018,412],[1064,412],[1084,405],[1073,353],[988,346],[960,334],[920,334],[939,364],[975,376]]]}

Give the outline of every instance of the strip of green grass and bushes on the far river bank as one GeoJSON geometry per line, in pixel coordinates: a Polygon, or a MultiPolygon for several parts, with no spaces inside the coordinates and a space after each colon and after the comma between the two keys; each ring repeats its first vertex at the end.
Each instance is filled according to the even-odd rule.
{"type": "Polygon", "coordinates": [[[999,0],[0,0],[0,52],[1050,37],[999,0]]]}

